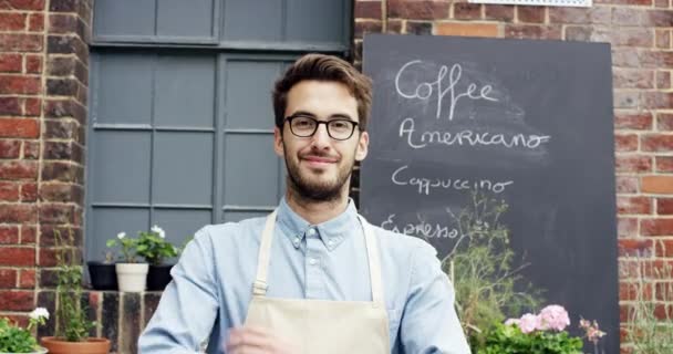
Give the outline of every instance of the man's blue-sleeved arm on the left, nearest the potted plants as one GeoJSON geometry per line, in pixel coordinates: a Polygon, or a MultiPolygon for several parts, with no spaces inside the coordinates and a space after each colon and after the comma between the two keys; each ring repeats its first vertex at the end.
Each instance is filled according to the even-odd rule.
{"type": "Polygon", "coordinates": [[[200,229],[173,267],[173,281],[138,340],[141,354],[193,354],[207,340],[219,308],[211,243],[200,229]]]}

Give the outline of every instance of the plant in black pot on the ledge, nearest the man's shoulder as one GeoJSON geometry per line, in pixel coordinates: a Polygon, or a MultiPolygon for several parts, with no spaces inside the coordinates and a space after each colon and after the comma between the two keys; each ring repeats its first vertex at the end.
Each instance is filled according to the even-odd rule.
{"type": "Polygon", "coordinates": [[[170,269],[174,266],[164,261],[177,257],[180,249],[167,241],[164,229],[155,225],[148,232],[138,232],[136,251],[149,263],[147,290],[164,290],[172,280],[170,269]]]}

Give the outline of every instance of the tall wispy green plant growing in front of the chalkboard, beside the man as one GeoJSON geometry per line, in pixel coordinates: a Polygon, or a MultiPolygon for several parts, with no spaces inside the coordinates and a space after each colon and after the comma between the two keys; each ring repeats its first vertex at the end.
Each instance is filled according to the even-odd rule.
{"type": "Polygon", "coordinates": [[[457,216],[447,210],[459,237],[442,267],[452,278],[458,316],[476,352],[494,324],[525,309],[539,306],[542,296],[539,290],[525,284],[519,274],[527,264],[512,266],[515,254],[509,247],[509,230],[500,222],[507,204],[476,192],[470,201],[457,216]],[[522,290],[517,291],[517,287],[522,290]]]}

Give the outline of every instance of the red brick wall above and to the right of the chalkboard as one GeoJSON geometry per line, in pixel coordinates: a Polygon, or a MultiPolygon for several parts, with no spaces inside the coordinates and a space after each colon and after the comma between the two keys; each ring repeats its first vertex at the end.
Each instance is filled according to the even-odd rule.
{"type": "MultiPolygon", "coordinates": [[[[670,0],[594,0],[592,8],[470,4],[448,0],[356,0],[362,35],[389,32],[610,42],[620,269],[625,257],[673,264],[673,51],[670,0]]],[[[633,294],[620,279],[620,305],[633,294]]],[[[628,346],[624,345],[624,350],[628,346]]]]}

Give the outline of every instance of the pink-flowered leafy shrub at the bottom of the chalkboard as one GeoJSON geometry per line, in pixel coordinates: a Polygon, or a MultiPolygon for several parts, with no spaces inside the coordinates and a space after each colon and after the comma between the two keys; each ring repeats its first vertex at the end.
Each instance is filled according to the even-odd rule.
{"type": "MultiPolygon", "coordinates": [[[[568,312],[560,305],[549,305],[539,314],[527,313],[496,324],[486,334],[485,346],[478,354],[582,354],[583,342],[566,332],[570,325],[568,312]]],[[[580,321],[586,339],[594,345],[605,334],[598,323],[580,321]]]]}

